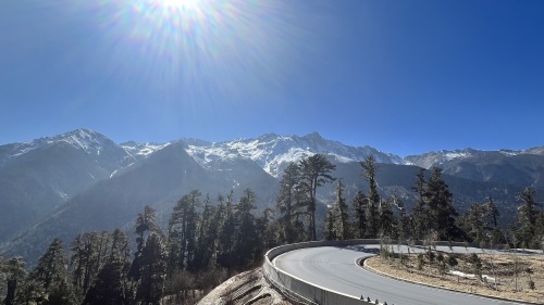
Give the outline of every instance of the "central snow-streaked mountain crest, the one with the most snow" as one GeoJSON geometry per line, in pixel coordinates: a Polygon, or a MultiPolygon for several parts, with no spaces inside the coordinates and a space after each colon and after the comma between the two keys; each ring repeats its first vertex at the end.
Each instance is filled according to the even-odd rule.
{"type": "Polygon", "coordinates": [[[317,153],[327,154],[336,162],[362,161],[374,155],[380,163],[404,164],[394,154],[383,153],[371,147],[349,147],[338,141],[323,139],[318,132],[304,137],[265,134],[257,139],[237,139],[220,143],[193,142],[187,152],[205,168],[213,169],[218,163],[238,158],[256,162],[264,171],[279,177],[290,163],[317,153]]]}

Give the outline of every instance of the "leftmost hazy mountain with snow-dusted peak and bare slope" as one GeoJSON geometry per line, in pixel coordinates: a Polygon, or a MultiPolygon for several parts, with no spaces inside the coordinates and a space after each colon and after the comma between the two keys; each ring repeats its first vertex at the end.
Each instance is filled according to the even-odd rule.
{"type": "Polygon", "coordinates": [[[134,158],[90,130],[0,147],[0,242],[134,158]]]}

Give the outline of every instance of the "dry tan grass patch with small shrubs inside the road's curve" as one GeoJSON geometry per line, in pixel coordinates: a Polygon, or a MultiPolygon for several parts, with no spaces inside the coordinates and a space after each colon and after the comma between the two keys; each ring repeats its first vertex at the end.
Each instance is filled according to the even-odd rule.
{"type": "MultiPolygon", "coordinates": [[[[392,256],[394,257],[372,257],[367,259],[366,265],[380,272],[407,281],[480,295],[543,304],[544,257],[542,255],[479,254],[482,277],[475,276],[474,278],[448,274],[453,268],[447,264],[447,254],[444,255],[443,264],[438,263],[436,257],[430,264],[426,255],[420,258],[417,254],[403,255],[401,258],[398,254],[392,256]],[[490,278],[486,279],[485,275],[490,278]]],[[[471,275],[478,272],[478,265],[471,263],[469,255],[454,254],[453,256],[458,262],[455,270],[471,275]]]]}

